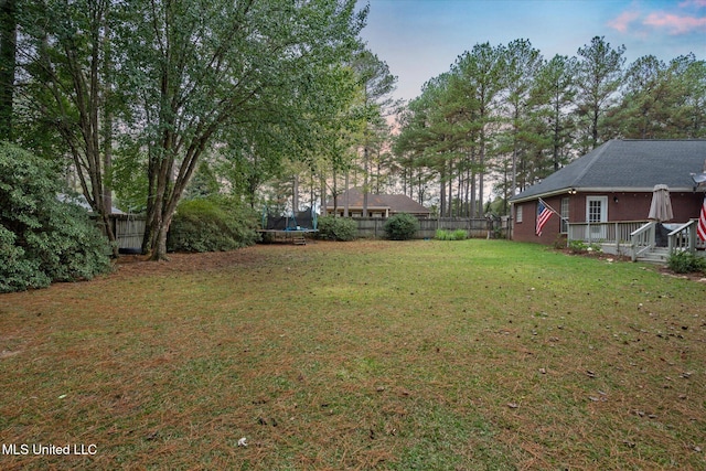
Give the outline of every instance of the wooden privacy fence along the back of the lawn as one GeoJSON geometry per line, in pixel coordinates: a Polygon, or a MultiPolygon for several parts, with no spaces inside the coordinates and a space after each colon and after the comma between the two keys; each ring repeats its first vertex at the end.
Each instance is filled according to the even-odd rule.
{"type": "MultiPolygon", "coordinates": [[[[363,238],[384,238],[385,222],[382,217],[354,217],[357,223],[357,236],[363,238]]],[[[466,231],[468,237],[503,238],[507,232],[506,222],[494,218],[439,217],[419,220],[419,231],[415,238],[434,238],[437,229],[466,231]]]]}

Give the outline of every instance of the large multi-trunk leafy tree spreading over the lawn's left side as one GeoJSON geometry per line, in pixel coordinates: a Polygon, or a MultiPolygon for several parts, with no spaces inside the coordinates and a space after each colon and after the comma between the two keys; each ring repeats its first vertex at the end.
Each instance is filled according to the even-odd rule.
{"type": "Polygon", "coordinates": [[[128,10],[140,21],[121,35],[126,74],[140,93],[133,114],[150,124],[142,132],[149,178],[145,246],[159,259],[204,150],[227,129],[248,122],[252,129],[264,117],[272,130],[291,128],[277,113],[296,108],[304,82],[357,45],[366,9],[356,13],[352,0],[178,0],[132,1],[128,10]]]}

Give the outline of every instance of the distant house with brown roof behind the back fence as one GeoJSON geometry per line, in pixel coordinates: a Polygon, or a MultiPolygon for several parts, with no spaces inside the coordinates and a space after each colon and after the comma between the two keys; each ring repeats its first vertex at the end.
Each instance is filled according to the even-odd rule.
{"type": "MultiPolygon", "coordinates": [[[[363,216],[363,192],[361,189],[350,189],[341,193],[335,201],[327,201],[327,214],[343,216],[347,204],[349,216],[363,216]]],[[[431,212],[404,194],[367,194],[367,216],[389,217],[398,213],[408,213],[419,218],[427,218],[431,212]]]]}

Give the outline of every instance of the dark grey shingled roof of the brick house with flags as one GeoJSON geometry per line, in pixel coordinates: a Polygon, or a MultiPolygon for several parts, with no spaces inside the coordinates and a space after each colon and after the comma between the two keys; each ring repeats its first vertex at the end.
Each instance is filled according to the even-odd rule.
{"type": "Polygon", "coordinates": [[[513,196],[512,202],[577,191],[692,191],[704,171],[706,140],[611,140],[513,196]]]}

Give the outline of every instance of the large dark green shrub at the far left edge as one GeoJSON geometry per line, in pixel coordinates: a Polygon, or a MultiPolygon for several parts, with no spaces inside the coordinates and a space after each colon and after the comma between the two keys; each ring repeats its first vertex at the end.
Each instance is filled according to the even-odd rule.
{"type": "Polygon", "coordinates": [[[0,292],[110,269],[108,239],[86,210],[58,201],[58,174],[51,162],[0,143],[0,292]]]}

